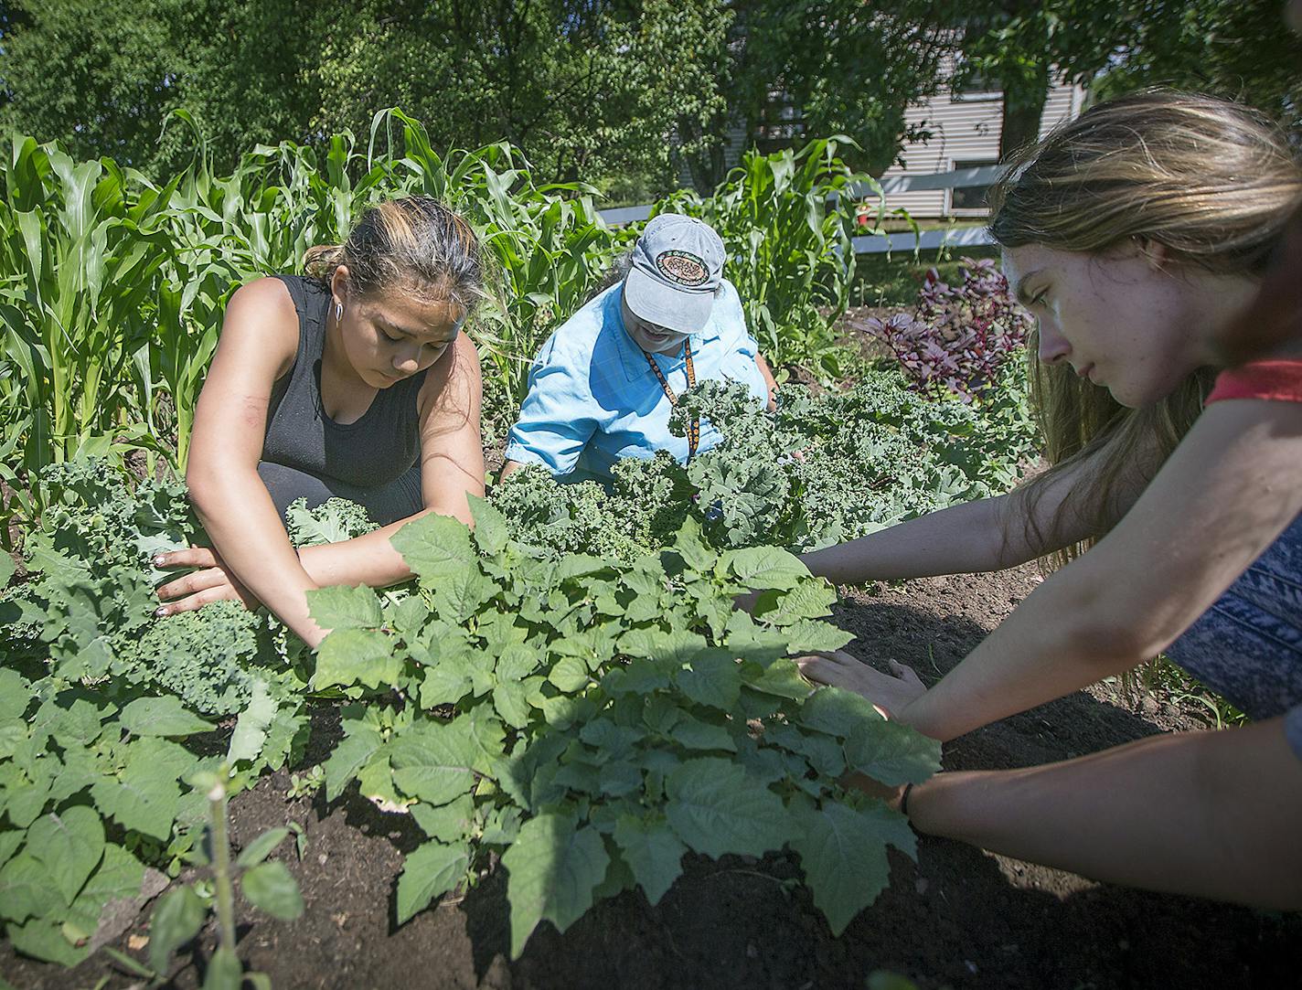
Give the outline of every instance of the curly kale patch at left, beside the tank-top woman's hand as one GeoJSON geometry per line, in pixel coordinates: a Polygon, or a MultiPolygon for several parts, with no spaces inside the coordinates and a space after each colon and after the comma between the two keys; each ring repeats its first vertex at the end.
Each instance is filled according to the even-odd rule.
{"type": "Polygon", "coordinates": [[[240,602],[158,619],[154,589],[176,571],[151,557],[201,533],[176,480],[133,487],[103,461],[46,468],[49,494],[40,528],[26,540],[29,580],[14,589],[26,653],[43,648],[52,671],[121,689],[163,689],[204,714],[230,714],[250,700],[249,667],[273,653],[267,619],[240,602]]]}

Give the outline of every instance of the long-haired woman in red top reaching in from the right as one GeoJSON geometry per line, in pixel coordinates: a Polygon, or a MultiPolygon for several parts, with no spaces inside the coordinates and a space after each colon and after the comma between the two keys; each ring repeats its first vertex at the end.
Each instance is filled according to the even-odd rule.
{"type": "Polygon", "coordinates": [[[806,561],[846,583],[1065,566],[931,688],[844,652],[802,666],[949,740],[1165,652],[1256,721],[885,792],[919,831],[1302,907],[1302,342],[1233,371],[1221,346],[1299,204],[1269,122],[1169,91],[1088,109],[993,190],[1052,467],[806,561]]]}

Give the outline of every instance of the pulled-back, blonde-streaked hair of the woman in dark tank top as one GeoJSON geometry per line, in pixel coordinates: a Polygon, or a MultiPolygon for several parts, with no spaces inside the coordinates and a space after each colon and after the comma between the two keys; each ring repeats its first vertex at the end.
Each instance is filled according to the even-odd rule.
{"type": "Polygon", "coordinates": [[[362,295],[410,288],[469,314],[488,294],[478,235],[432,196],[379,203],[362,215],[342,245],[318,245],[303,259],[307,273],[327,286],[340,265],[362,295]]]}

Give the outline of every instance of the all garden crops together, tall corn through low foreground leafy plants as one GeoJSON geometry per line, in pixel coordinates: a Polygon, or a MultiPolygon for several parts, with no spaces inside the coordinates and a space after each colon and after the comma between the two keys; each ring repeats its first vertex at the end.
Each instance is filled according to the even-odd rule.
{"type": "MultiPolygon", "coordinates": [[[[12,152],[0,423],[22,531],[21,570],[0,557],[0,922],[18,951],[77,964],[146,870],[194,866],[204,879],[154,908],[147,964],[124,964],[165,973],[211,911],[223,938],[208,981],[238,986],[234,891],[280,917],[303,909],[275,857],[286,829],[234,859],[225,840],[228,796],[280,768],[422,830],[392,892],[398,924],[500,856],[516,955],[540,921],[564,929],[622,890],[655,903],[687,851],[789,848],[838,933],[885,885],[887,846],[913,852],[904,818],[840,779],[923,779],[939,745],[799,676],[790,656],[849,635],[823,621],[835,592],[792,550],[1003,490],[1034,455],[1006,360],[1025,325],[988,267],[961,286],[932,280],[913,321],[880,324],[898,366],[862,367],[853,388],[785,385],[769,414],[734,386],[698,386],[677,418],[704,416],[724,442],[687,466],[630,462],[609,492],[526,470],[474,502],[473,531],[409,524],[393,542],[415,578],[314,593],[332,630],[314,653],[236,604],[152,614],[152,555],[204,540],[174,479],[229,291],[294,269],[378,196],[450,202],[501,269],[480,325],[500,429],[525,358],[626,234],[585,190],[535,185],[510,148],[440,159],[396,112],[366,156],[348,138],[319,167],[258,148],[233,177],[201,160],[161,189],[30,140],[12,152]],[[375,155],[385,142],[400,151],[375,155]],[[138,480],[134,449],[163,470],[138,480]],[[745,591],[750,614],[733,605],[745,591]],[[337,718],[311,717],[323,709],[337,718]],[[328,752],[315,765],[310,740],[328,752]]],[[[825,198],[853,178],[816,143],[749,159],[712,199],[665,204],[724,233],[779,363],[831,375],[848,354],[829,320],[853,274],[853,209],[825,198]]],[[[370,528],[341,502],[288,522],[299,545],[370,528]]]]}

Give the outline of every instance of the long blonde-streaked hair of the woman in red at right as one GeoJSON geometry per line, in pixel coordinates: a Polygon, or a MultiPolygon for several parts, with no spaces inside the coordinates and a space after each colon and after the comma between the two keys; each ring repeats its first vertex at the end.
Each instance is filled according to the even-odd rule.
{"type": "MultiPolygon", "coordinates": [[[[1256,111],[1150,90],[1098,104],[1019,152],[990,202],[990,230],[1003,247],[1100,254],[1138,239],[1161,245],[1173,267],[1255,278],[1302,202],[1302,169],[1280,129],[1256,111]]],[[[1069,557],[1118,518],[1120,481],[1135,455],[1155,454],[1160,464],[1176,449],[1215,371],[1199,368],[1165,398],[1131,410],[1069,367],[1042,364],[1038,343],[1032,333],[1031,398],[1052,467],[1018,489],[1027,519],[1061,471],[1083,458],[1101,462],[1052,523],[1061,532],[1068,513],[1086,520],[1092,536],[1069,557]]]]}

